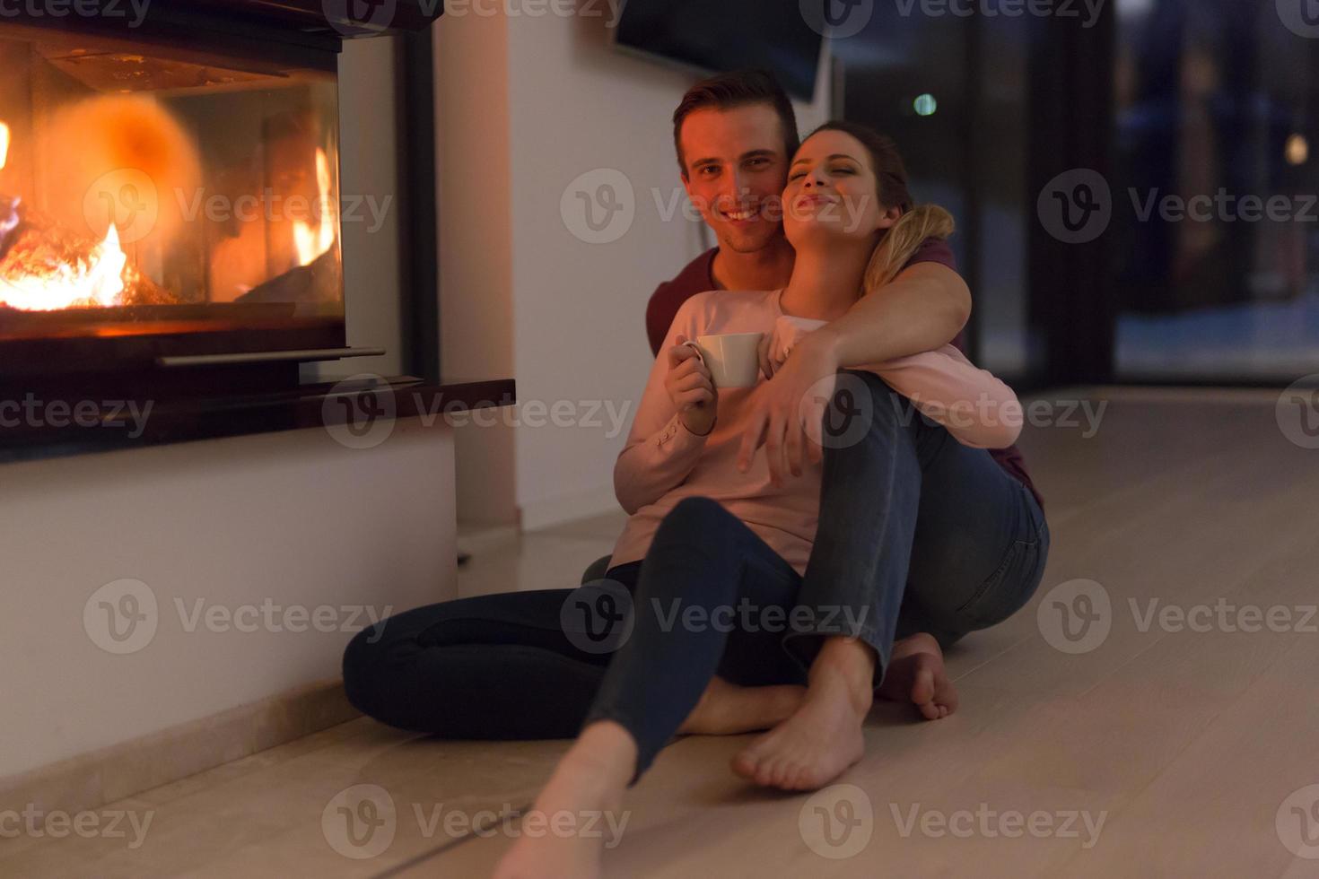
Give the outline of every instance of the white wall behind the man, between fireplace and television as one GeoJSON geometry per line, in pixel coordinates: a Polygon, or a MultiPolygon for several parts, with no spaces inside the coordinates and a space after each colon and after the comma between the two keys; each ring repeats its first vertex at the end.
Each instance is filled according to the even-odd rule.
{"type": "MultiPolygon", "coordinates": [[[[459,472],[514,473],[524,527],[616,507],[613,460],[652,364],[646,302],[703,249],[698,224],[681,210],[666,220],[653,196],[658,191],[669,204],[681,186],[671,116],[699,76],[617,51],[607,20],[470,14],[437,25],[438,88],[450,96],[439,100],[439,136],[451,141],[441,154],[445,344],[480,327],[510,345],[509,356],[501,349],[496,358],[458,341],[446,369],[471,374],[510,362],[521,414],[512,448],[479,441],[481,451],[472,455],[459,431],[459,472]],[[488,140],[474,140],[477,129],[488,140]],[[608,244],[579,240],[561,215],[565,188],[594,169],[623,171],[637,199],[630,229],[608,244]],[[463,191],[479,192],[479,213],[471,199],[446,190],[464,181],[463,191]],[[456,229],[481,246],[459,248],[456,229]],[[456,289],[455,273],[462,274],[456,289]],[[576,406],[583,416],[608,401],[628,419],[620,435],[609,435],[607,416],[599,427],[533,427],[526,410],[533,401],[586,403],[576,406]]],[[[824,119],[826,83],[820,76],[816,100],[798,105],[803,129],[824,119]]],[[[460,493],[463,521],[513,521],[504,510],[489,515],[460,493]]]]}

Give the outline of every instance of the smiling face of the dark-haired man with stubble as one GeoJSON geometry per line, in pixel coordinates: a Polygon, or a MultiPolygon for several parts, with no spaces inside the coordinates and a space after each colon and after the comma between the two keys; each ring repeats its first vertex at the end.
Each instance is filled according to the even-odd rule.
{"type": "Polygon", "coordinates": [[[683,184],[720,246],[754,253],[783,233],[783,149],[769,104],[696,109],[683,120],[683,184]]]}

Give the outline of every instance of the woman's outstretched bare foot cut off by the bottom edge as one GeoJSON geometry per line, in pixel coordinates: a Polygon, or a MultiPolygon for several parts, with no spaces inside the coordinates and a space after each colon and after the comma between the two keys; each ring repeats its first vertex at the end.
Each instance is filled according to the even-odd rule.
{"type": "Polygon", "coordinates": [[[599,879],[604,849],[619,845],[628,824],[620,809],[636,759],[636,743],[621,726],[601,721],[583,730],[522,814],[495,879],[599,879]]]}

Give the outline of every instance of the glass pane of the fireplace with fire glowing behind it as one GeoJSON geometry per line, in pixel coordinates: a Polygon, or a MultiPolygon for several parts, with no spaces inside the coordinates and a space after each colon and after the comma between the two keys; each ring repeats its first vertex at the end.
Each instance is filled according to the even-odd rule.
{"type": "Polygon", "coordinates": [[[0,71],[0,345],[342,344],[332,69],[3,24],[0,71]]]}

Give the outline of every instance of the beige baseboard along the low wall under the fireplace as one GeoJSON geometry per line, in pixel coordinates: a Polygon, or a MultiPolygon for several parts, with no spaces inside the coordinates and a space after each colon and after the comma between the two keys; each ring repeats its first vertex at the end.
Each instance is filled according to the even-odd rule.
{"type": "Polygon", "coordinates": [[[309,684],[0,779],[0,812],[98,809],[356,717],[342,680],[309,684]]]}

